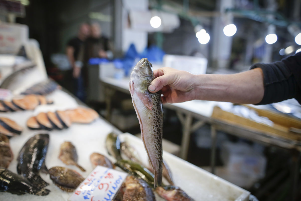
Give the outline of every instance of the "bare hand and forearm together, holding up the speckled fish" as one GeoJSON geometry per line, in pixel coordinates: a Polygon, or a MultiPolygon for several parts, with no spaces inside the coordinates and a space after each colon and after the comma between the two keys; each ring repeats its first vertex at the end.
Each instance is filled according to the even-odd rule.
{"type": "Polygon", "coordinates": [[[197,99],[256,104],[265,93],[260,68],[236,74],[194,75],[164,67],[155,70],[154,75],[156,78],[148,86],[148,91],[156,93],[161,90],[163,103],[197,99]]]}

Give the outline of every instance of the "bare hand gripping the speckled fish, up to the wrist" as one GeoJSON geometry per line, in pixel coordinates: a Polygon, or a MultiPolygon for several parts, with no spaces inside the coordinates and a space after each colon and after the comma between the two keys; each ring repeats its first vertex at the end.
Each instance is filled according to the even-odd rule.
{"type": "Polygon", "coordinates": [[[151,93],[161,90],[163,103],[196,99],[196,77],[187,71],[164,67],[154,71],[155,79],[148,86],[151,93]]]}

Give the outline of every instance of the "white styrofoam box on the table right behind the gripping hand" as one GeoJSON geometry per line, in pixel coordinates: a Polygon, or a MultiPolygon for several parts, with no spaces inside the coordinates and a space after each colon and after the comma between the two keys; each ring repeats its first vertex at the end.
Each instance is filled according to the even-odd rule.
{"type": "Polygon", "coordinates": [[[192,74],[205,74],[208,60],[201,57],[182,55],[164,55],[163,66],[175,68],[180,71],[188,71],[192,74]]]}

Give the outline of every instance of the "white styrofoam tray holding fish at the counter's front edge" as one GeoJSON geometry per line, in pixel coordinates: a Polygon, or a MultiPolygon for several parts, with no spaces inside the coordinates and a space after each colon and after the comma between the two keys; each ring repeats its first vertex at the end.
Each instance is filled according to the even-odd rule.
{"type": "MultiPolygon", "coordinates": [[[[148,158],[140,138],[129,133],[119,135],[138,150],[144,164],[148,158]]],[[[163,159],[169,165],[175,185],[184,190],[195,201],[248,201],[250,192],[211,174],[183,159],[163,151],[163,159]]],[[[164,182],[164,180],[163,180],[164,182]]],[[[157,201],[164,199],[157,197],[157,201]]]]}

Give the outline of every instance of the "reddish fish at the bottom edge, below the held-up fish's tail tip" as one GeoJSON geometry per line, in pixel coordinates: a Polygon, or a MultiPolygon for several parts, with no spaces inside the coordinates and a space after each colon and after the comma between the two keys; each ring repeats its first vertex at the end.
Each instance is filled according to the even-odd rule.
{"type": "Polygon", "coordinates": [[[182,189],[175,186],[157,187],[156,193],[167,201],[194,201],[182,189]]]}

